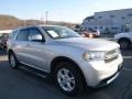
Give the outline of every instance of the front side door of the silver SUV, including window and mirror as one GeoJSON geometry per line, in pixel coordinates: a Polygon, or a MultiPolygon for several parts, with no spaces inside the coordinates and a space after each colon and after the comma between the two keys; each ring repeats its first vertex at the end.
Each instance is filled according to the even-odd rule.
{"type": "Polygon", "coordinates": [[[37,28],[29,28],[29,32],[30,65],[34,66],[35,68],[45,70],[46,55],[44,35],[37,28]]]}

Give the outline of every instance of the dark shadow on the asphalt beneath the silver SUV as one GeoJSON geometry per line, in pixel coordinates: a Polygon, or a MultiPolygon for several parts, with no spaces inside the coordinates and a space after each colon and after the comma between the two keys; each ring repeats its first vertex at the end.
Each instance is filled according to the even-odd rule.
{"type": "MultiPolygon", "coordinates": [[[[77,96],[74,96],[74,97],[68,97],[68,96],[65,96],[64,94],[62,94],[55,87],[55,84],[54,84],[52,78],[42,77],[42,76],[40,76],[37,74],[34,74],[33,72],[31,72],[31,70],[29,70],[26,68],[23,68],[23,67],[19,67],[18,70],[19,70],[19,73],[22,73],[22,74],[29,76],[28,78],[32,78],[32,80],[29,80],[26,78],[24,78],[24,80],[30,81],[30,84],[35,85],[37,87],[41,87],[44,90],[46,89],[47,91],[51,92],[51,95],[55,95],[56,97],[58,97],[57,99],[86,99],[86,98],[97,99],[96,95],[98,95],[99,91],[106,90],[107,88],[109,89],[111,86],[114,87],[114,82],[112,82],[112,85],[109,85],[109,86],[106,86],[106,87],[102,87],[102,88],[87,87],[87,88],[85,88],[85,90],[80,95],[77,95],[77,96]]],[[[103,97],[103,96],[100,96],[100,97],[103,97]]]]}

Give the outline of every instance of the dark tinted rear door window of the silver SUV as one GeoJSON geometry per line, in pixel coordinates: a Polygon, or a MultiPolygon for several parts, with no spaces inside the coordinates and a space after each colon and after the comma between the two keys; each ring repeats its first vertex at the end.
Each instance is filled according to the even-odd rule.
{"type": "Polygon", "coordinates": [[[20,30],[16,40],[19,41],[29,41],[29,31],[28,30],[20,30]]]}

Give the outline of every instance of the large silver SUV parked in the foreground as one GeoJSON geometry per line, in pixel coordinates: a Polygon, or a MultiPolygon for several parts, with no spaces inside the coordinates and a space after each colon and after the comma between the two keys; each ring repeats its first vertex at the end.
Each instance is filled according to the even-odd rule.
{"type": "Polygon", "coordinates": [[[52,75],[62,92],[74,96],[86,85],[98,88],[118,77],[122,67],[119,47],[114,42],[81,37],[67,28],[36,25],[11,33],[8,56],[12,68],[24,64],[52,75]]]}

